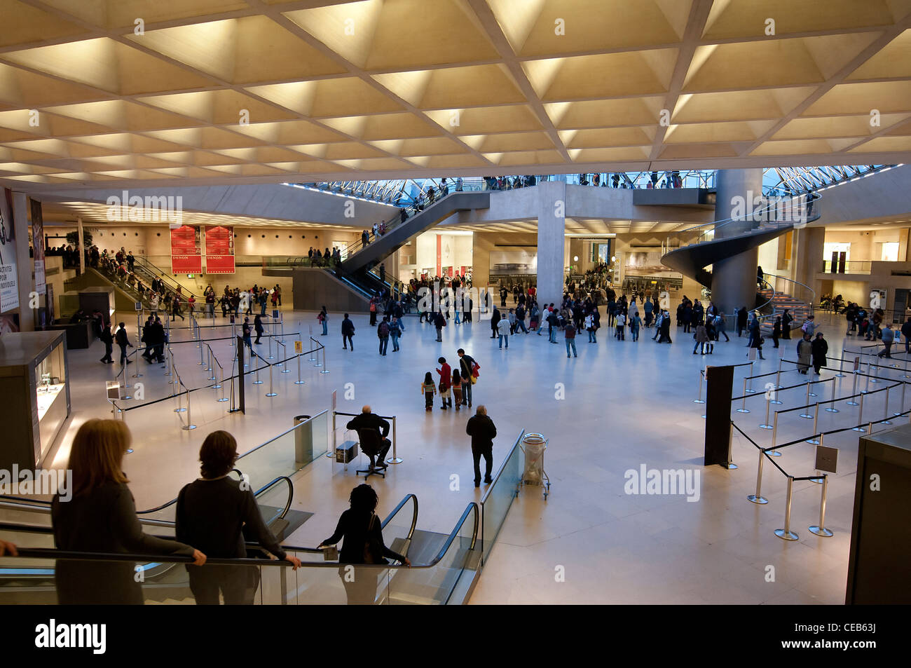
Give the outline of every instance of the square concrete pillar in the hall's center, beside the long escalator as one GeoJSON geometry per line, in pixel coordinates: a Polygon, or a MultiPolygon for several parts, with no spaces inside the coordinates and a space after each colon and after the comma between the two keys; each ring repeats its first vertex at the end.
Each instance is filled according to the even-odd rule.
{"type": "Polygon", "coordinates": [[[537,188],[537,303],[560,303],[566,246],[567,184],[547,181],[537,188]]]}

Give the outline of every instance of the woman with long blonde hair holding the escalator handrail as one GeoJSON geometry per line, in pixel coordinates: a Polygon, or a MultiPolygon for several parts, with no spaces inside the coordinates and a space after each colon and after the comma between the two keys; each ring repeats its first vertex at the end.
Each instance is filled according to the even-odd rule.
{"type": "MultiPolygon", "coordinates": [[[[57,494],[51,504],[57,549],[180,555],[201,566],[206,555],[200,550],[142,532],[123,473],[130,440],[127,425],[119,420],[91,419],[79,427],[67,467],[73,472],[73,496],[65,501],[57,494]]],[[[135,571],[130,561],[57,560],[57,601],[141,605],[135,571]]]]}

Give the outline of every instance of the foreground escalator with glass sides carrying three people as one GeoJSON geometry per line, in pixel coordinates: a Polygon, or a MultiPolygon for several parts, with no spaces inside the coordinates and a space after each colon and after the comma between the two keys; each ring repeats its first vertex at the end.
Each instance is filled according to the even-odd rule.
{"type": "MultiPolygon", "coordinates": [[[[471,502],[447,534],[416,529],[417,498],[402,501],[383,520],[384,542],[404,553],[412,567],[403,565],[342,566],[322,558],[322,550],[289,545],[282,547],[302,560],[292,570],[287,561],[240,559],[207,560],[208,565],[244,566],[257,570],[258,589],[254,603],[259,604],[344,604],[383,605],[447,604],[464,602],[479,569],[480,514],[471,502]],[[345,573],[356,569],[360,586],[351,587],[345,573]],[[364,587],[364,584],[369,586],[364,587]],[[375,587],[373,586],[375,583],[375,587]]],[[[192,604],[187,572],[181,565],[189,558],[141,554],[97,554],[65,552],[49,547],[53,543],[50,527],[0,523],[0,538],[19,545],[19,557],[0,561],[0,604],[55,603],[53,560],[89,560],[98,564],[115,560],[133,561],[143,573],[142,591],[147,603],[192,604]],[[28,547],[26,547],[26,545],[28,547]]],[[[259,549],[248,543],[248,553],[259,549]]],[[[205,568],[205,567],[203,567],[205,568]]]]}

